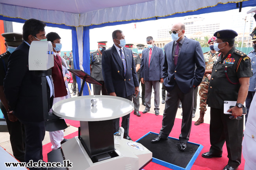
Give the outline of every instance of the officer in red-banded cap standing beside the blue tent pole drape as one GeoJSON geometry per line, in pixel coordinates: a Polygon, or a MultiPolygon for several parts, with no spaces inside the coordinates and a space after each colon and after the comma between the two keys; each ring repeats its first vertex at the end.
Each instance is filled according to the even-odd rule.
{"type": "Polygon", "coordinates": [[[96,80],[102,82],[101,85],[93,84],[93,94],[100,95],[100,91],[102,95],[108,95],[106,90],[106,86],[104,84],[103,76],[102,76],[102,52],[106,50],[108,41],[99,41],[98,49],[93,51],[90,54],[90,70],[91,76],[96,80]]]}

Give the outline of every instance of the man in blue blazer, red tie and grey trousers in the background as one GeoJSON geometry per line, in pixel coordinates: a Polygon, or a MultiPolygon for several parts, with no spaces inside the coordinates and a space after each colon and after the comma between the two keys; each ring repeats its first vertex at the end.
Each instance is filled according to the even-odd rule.
{"type": "Polygon", "coordinates": [[[141,57],[141,83],[145,83],[146,108],[142,113],[150,111],[152,87],[155,93],[155,113],[159,115],[160,83],[163,82],[163,49],[154,46],[153,37],[146,38],[148,48],[144,49],[141,57]]]}

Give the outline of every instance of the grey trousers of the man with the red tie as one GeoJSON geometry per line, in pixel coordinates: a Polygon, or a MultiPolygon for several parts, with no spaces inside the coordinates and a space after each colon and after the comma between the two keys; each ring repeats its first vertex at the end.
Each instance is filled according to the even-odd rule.
{"type": "Polygon", "coordinates": [[[159,80],[156,81],[145,81],[145,102],[146,102],[146,108],[145,109],[150,109],[151,108],[151,93],[152,93],[152,86],[154,88],[154,94],[155,94],[155,100],[154,100],[154,105],[155,108],[154,110],[160,110],[159,104],[160,104],[160,82],[159,80]]]}

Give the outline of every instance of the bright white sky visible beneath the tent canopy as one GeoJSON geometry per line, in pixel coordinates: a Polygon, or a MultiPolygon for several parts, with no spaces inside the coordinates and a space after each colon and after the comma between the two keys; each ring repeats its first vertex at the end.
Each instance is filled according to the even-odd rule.
{"type": "MultiPolygon", "coordinates": [[[[193,15],[191,17],[203,17],[207,21],[218,21],[221,24],[221,29],[232,29],[234,24],[239,24],[241,27],[244,27],[243,18],[249,16],[246,12],[249,11],[252,7],[242,8],[241,13],[238,12],[238,9],[233,9],[230,11],[216,12],[216,13],[207,13],[201,15],[193,15]]],[[[158,19],[144,22],[137,22],[135,29],[135,22],[130,24],[122,24],[117,26],[108,26],[102,28],[90,29],[90,50],[97,49],[98,41],[108,41],[108,48],[113,45],[112,32],[116,29],[123,31],[126,44],[137,43],[137,44],[146,44],[146,38],[152,36],[155,40],[157,38],[157,30],[161,27],[171,26],[176,22],[181,22],[184,18],[190,16],[176,17],[176,18],[167,18],[167,19],[158,19]]],[[[13,32],[22,33],[21,23],[13,22],[13,32]]],[[[237,28],[238,29],[238,28],[237,28]]],[[[236,30],[235,30],[236,31],[236,30]]],[[[49,32],[56,32],[61,37],[62,49],[61,51],[71,51],[72,50],[72,36],[70,29],[61,29],[56,27],[45,27],[46,34],[49,32]]],[[[186,35],[186,31],[185,31],[186,35]]],[[[171,41],[171,40],[170,40],[171,41]]]]}

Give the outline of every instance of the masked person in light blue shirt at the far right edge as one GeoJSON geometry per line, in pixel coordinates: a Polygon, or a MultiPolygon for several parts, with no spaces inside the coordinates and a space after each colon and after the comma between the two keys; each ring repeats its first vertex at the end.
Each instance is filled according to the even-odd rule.
{"type": "Polygon", "coordinates": [[[250,109],[250,103],[252,102],[252,98],[255,94],[255,88],[256,88],[256,27],[253,29],[252,33],[250,34],[252,37],[252,46],[253,50],[248,53],[248,57],[250,57],[251,64],[252,64],[252,77],[250,78],[250,86],[249,86],[249,91],[248,95],[245,100],[245,105],[246,105],[246,115],[245,115],[245,124],[247,122],[247,117],[250,109]]]}

